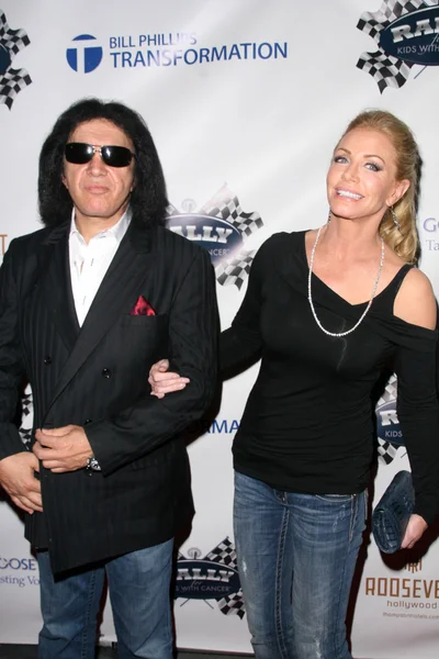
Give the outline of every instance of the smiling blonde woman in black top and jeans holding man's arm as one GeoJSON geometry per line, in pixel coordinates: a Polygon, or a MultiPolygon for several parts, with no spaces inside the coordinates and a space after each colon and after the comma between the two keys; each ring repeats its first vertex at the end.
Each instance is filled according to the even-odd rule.
{"type": "MultiPolygon", "coordinates": [[[[367,514],[371,392],[385,370],[398,376],[416,493],[403,547],[437,512],[436,301],[415,267],[419,163],[397,118],[357,116],[329,166],[329,222],[261,246],[222,334],[223,370],[262,357],[233,448],[235,539],[257,659],[351,657],[345,621],[367,514]]],[[[151,371],[159,396],[190,387],[167,367],[151,371]]]]}

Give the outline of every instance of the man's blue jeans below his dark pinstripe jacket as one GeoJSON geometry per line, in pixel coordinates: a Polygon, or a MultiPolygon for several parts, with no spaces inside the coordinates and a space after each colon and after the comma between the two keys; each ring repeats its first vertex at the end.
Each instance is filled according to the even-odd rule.
{"type": "Polygon", "coordinates": [[[60,580],[54,580],[48,552],[40,551],[44,624],[38,658],[94,658],[97,615],[106,572],[119,659],[171,659],[172,547],[171,539],[60,580]]]}

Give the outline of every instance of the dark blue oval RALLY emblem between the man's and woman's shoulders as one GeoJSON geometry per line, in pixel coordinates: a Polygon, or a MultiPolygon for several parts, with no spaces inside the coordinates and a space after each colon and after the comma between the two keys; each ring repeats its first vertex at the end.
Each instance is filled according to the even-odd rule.
{"type": "Polygon", "coordinates": [[[243,236],[229,222],[201,214],[178,214],[167,220],[170,231],[204,247],[215,266],[243,246],[243,236]]]}

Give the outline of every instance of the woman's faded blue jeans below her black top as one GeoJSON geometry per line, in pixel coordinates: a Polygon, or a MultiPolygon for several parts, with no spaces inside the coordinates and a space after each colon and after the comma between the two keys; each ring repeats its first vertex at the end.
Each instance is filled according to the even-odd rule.
{"type": "Polygon", "coordinates": [[[295,494],[235,472],[235,541],[257,659],[350,659],[367,494],[295,494]]]}

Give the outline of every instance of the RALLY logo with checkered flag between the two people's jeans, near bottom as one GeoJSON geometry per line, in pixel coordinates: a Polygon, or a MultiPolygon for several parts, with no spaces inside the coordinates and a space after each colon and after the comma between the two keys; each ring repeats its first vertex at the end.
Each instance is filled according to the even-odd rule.
{"type": "Polygon", "coordinates": [[[224,615],[246,614],[243,591],[236,562],[235,545],[226,537],[206,556],[200,549],[190,549],[189,558],[179,554],[175,599],[182,599],[183,606],[189,600],[203,600],[213,608],[216,602],[224,615]]]}

